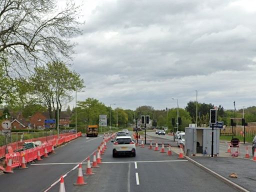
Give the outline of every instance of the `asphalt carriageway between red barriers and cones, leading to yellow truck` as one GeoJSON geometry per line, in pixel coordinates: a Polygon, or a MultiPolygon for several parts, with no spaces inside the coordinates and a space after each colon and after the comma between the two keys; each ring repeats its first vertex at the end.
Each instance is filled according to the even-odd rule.
{"type": "Polygon", "coordinates": [[[57,147],[55,148],[55,154],[49,154],[47,158],[28,165],[27,169],[16,168],[12,174],[0,175],[0,190],[17,191],[18,188],[18,191],[44,191],[59,179],[60,175],[64,175],[78,162],[83,161],[90,155],[102,140],[102,135],[90,138],[79,137],[57,147]],[[46,165],[43,165],[45,163],[46,165]]]}

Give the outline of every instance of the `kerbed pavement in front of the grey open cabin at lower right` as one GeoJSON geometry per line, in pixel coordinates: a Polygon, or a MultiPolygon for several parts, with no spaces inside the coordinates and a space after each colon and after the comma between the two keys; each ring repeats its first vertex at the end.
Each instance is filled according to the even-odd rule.
{"type": "MultiPolygon", "coordinates": [[[[171,150],[177,154],[180,152],[178,147],[172,147],[171,150]]],[[[184,156],[184,158],[238,191],[256,191],[256,161],[251,158],[251,154],[250,158],[232,157],[227,152],[214,157],[196,154],[196,156],[184,156]],[[231,173],[235,173],[237,178],[231,178],[229,176],[231,173]]]]}

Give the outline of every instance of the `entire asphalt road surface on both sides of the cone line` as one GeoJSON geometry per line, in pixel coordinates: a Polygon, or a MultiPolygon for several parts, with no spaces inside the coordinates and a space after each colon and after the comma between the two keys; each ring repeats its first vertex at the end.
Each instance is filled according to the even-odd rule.
{"type": "MultiPolygon", "coordinates": [[[[150,139],[173,142],[168,135],[149,136],[150,139]]],[[[54,182],[60,175],[66,175],[65,191],[235,191],[174,153],[168,156],[166,152],[149,150],[148,146],[137,146],[135,157],[113,158],[111,142],[107,143],[108,148],[102,155],[103,163],[99,168],[92,168],[95,174],[83,177],[87,185],[74,186],[77,179],[77,168],[74,167],[91,155],[101,141],[102,137],[79,137],[56,148],[56,154],[50,154],[27,169],[14,169],[13,174],[0,175],[1,191],[59,191],[59,183],[54,182]]],[[[82,164],[83,172],[86,165],[82,164]]]]}

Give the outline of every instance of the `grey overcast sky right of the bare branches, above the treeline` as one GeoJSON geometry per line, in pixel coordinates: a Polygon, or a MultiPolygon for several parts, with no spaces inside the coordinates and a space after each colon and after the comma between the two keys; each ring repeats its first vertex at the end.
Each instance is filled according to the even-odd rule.
{"type": "MultiPolygon", "coordinates": [[[[255,0],[76,0],[85,24],[72,68],[77,100],[113,108],[185,107],[190,100],[236,109],[255,104],[255,0]]],[[[74,101],[70,104],[73,105],[74,101]]]]}

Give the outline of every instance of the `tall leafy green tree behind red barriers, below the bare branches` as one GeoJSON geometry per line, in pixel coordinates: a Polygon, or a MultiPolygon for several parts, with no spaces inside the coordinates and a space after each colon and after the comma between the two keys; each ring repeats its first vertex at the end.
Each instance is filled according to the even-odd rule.
{"type": "Polygon", "coordinates": [[[57,108],[59,112],[62,108],[61,103],[70,102],[72,92],[84,87],[80,75],[59,61],[36,67],[35,73],[29,77],[29,86],[32,93],[47,106],[50,118],[54,115],[56,119],[57,108]]]}

